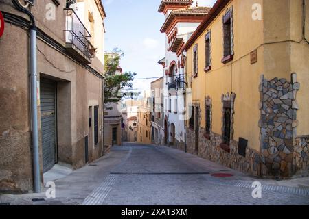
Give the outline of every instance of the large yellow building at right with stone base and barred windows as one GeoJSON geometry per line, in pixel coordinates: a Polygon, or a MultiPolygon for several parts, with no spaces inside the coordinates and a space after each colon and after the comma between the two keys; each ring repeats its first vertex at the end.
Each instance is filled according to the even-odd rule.
{"type": "Polygon", "coordinates": [[[308,23],[306,0],[216,2],[178,54],[188,152],[251,175],[308,175],[308,23]]]}

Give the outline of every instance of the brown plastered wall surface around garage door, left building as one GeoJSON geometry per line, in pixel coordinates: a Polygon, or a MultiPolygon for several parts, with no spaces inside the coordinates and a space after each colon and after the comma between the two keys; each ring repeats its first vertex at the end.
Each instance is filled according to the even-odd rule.
{"type": "MultiPolygon", "coordinates": [[[[65,1],[61,1],[62,6],[55,7],[55,21],[47,21],[43,13],[47,3],[51,1],[36,1],[33,8],[36,24],[38,29],[64,47],[65,1]]],[[[12,1],[1,0],[0,10],[27,18],[14,10],[12,1]]],[[[5,33],[0,39],[1,54],[12,54],[12,51],[16,53],[14,57],[0,56],[2,69],[0,100],[3,103],[0,117],[0,190],[27,192],[32,190],[30,83],[27,55],[29,38],[25,29],[9,23],[5,23],[5,26],[5,33]],[[16,47],[16,44],[19,46],[16,47]]],[[[101,30],[103,31],[102,27],[98,28],[98,31],[101,30]]],[[[97,69],[99,74],[103,74],[102,64],[93,65],[93,68],[97,69]]],[[[73,60],[65,52],[51,47],[41,38],[37,40],[37,73],[38,81],[40,77],[46,77],[57,83],[58,161],[71,164],[73,168],[84,165],[84,137],[90,135],[91,131],[88,123],[89,107],[92,107],[90,114],[93,118],[93,107],[97,105],[99,142],[94,145],[93,139],[89,140],[89,161],[98,159],[102,155],[102,120],[100,120],[103,109],[102,78],[93,75],[78,61],[73,60]]],[[[41,135],[40,116],[38,107],[38,126],[41,135]]],[[[39,141],[41,142],[41,138],[39,141]]],[[[40,143],[42,161],[41,150],[40,143]]],[[[43,173],[42,162],[41,173],[43,173]]]]}

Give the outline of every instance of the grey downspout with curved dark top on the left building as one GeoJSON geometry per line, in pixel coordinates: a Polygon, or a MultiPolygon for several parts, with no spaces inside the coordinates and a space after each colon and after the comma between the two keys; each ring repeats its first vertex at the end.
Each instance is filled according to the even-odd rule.
{"type": "Polygon", "coordinates": [[[41,192],[41,175],[40,162],[38,153],[38,109],[36,105],[36,23],[33,14],[23,8],[18,0],[12,0],[13,5],[17,10],[27,14],[30,18],[30,81],[31,81],[31,123],[32,123],[32,163],[33,163],[33,177],[34,177],[34,192],[41,192]]]}

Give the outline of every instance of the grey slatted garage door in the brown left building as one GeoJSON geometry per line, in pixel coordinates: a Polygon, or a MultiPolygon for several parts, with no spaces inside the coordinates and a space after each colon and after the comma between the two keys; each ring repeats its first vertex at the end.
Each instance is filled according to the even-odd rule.
{"type": "Polygon", "coordinates": [[[43,172],[50,170],[56,161],[56,83],[48,79],[40,81],[41,131],[43,172]]]}

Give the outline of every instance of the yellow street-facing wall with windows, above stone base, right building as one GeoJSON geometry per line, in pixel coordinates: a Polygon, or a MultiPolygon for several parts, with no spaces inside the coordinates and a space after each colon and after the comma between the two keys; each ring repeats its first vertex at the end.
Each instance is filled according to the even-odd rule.
{"type": "MultiPolygon", "coordinates": [[[[258,121],[260,119],[258,90],[260,75],[263,73],[263,23],[251,18],[253,3],[262,0],[235,0],[233,5],[234,57],[233,61],[222,64],[223,39],[222,16],[226,9],[209,25],[196,40],[198,43],[198,77],[192,78],[192,100],[201,105],[201,127],[205,127],[205,96],[212,99],[212,131],[222,134],[222,94],[236,93],[233,140],[239,137],[249,140],[249,146],[259,149],[258,121]],[[205,68],[205,34],[211,29],[211,70],[205,68]],[[250,52],[258,49],[258,63],[250,64],[250,52]],[[245,121],[245,122],[244,122],[245,121]]],[[[196,42],[194,44],[196,44],[196,42]]],[[[187,51],[187,73],[192,75],[192,49],[187,51]]],[[[190,81],[190,80],[189,80],[190,81]]]]}

